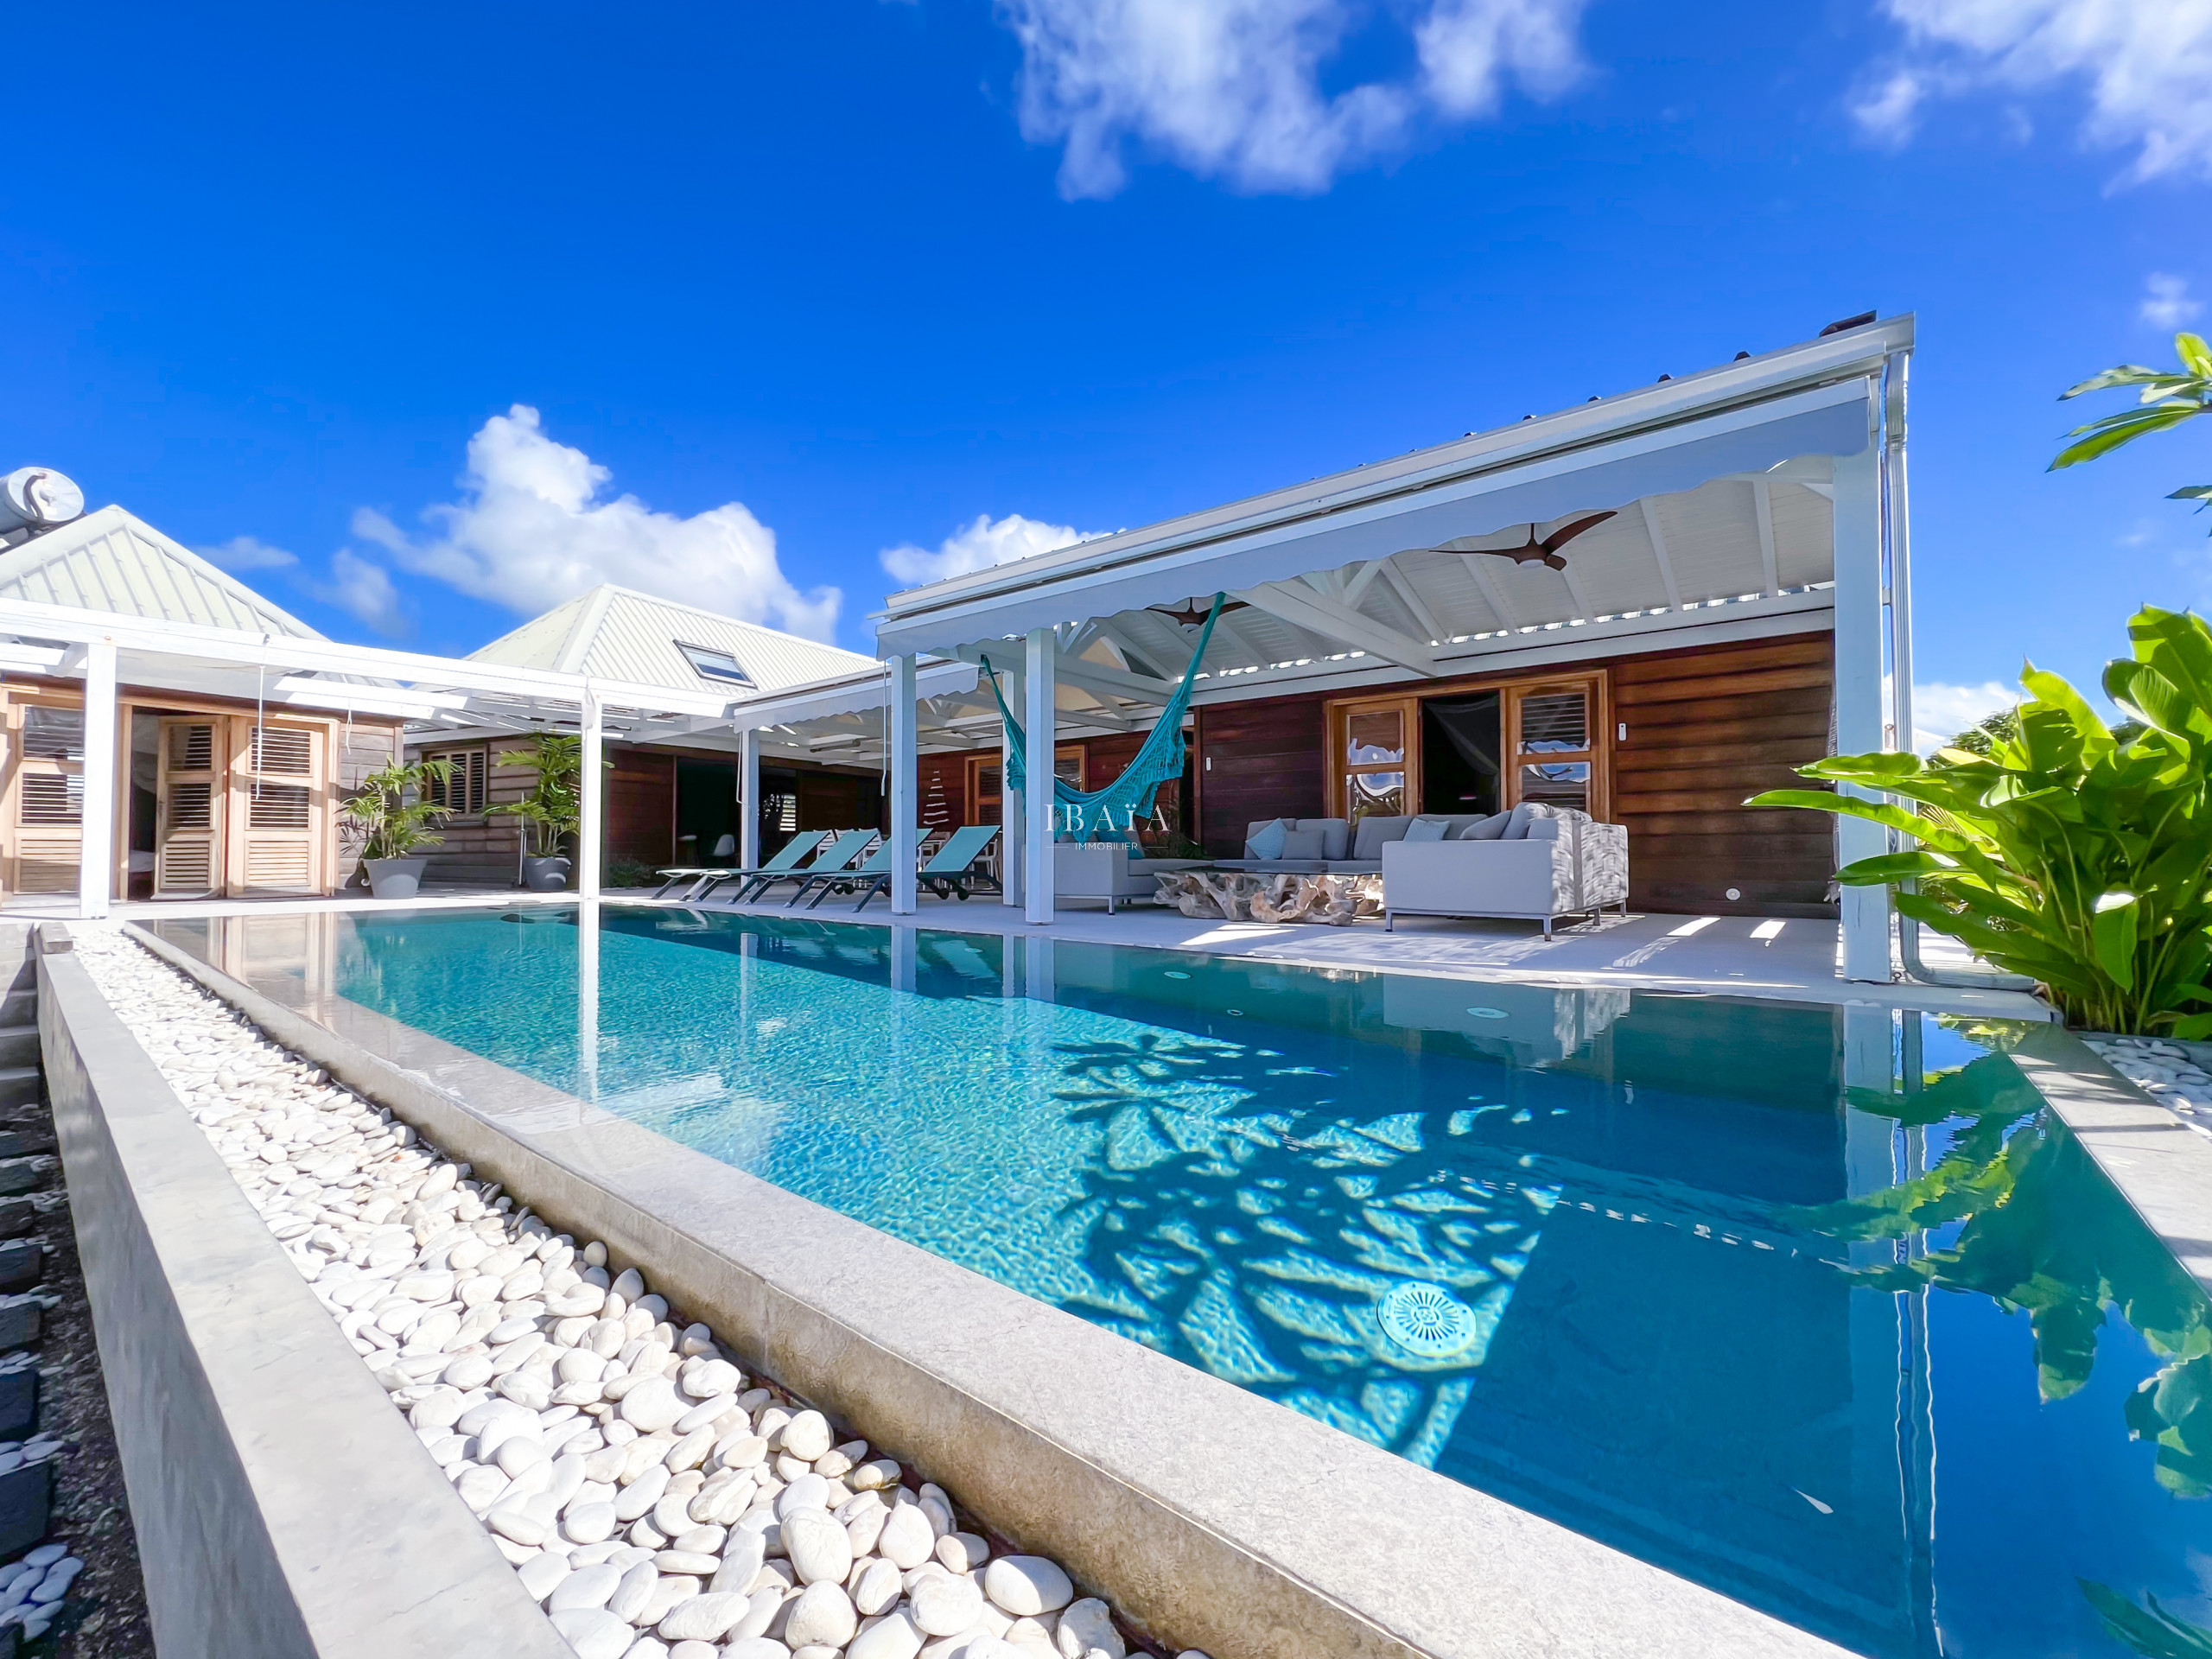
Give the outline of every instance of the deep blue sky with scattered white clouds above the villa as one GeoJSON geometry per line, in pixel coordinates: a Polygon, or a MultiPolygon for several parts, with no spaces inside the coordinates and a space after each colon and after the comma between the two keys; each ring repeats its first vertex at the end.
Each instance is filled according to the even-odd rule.
{"type": "Polygon", "coordinates": [[[2161,500],[2212,434],[2044,473],[2059,387],[2203,325],[2208,0],[93,4],[35,71],[0,462],[341,637],[611,577],[865,650],[887,555],[1869,307],[1920,316],[1920,679],[2093,677],[2212,597],[2161,500]]]}

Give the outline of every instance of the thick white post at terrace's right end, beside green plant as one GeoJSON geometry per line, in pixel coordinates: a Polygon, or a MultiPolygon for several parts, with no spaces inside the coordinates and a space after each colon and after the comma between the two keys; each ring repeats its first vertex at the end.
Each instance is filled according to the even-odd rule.
{"type": "MultiPolygon", "coordinates": [[[[1869,438],[1836,458],[1836,750],[1869,754],[1887,737],[1882,699],[1882,484],[1869,438]]],[[[1851,794],[1869,794],[1840,785],[1851,794]]],[[[1889,849],[1889,832],[1865,818],[1836,821],[1845,865],[1889,849]]],[[[1843,889],[1843,978],[1889,982],[1889,889],[1843,889]]]]}

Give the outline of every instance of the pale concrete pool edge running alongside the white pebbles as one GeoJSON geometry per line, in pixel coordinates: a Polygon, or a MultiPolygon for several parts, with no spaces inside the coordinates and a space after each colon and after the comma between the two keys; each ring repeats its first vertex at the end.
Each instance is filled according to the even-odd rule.
{"type": "Polygon", "coordinates": [[[299,978],[126,933],[1175,1644],[1843,1652],[299,978]]]}

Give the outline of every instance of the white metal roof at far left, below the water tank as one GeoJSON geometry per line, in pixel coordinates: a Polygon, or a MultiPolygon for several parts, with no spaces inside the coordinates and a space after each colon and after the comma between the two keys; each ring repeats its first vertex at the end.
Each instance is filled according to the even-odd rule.
{"type": "Polygon", "coordinates": [[[0,599],[290,639],[323,637],[122,507],[102,507],[0,553],[0,599]]]}

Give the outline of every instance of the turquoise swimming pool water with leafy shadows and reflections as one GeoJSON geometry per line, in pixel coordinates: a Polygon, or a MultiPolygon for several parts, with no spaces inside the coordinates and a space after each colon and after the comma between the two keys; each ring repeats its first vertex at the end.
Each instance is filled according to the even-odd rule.
{"type": "Polygon", "coordinates": [[[2002,1026],[606,905],[586,1051],[573,911],[327,938],[292,971],[1851,1650],[2212,1652],[2212,1318],[2002,1026]]]}

